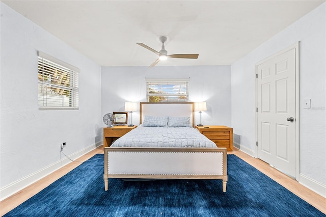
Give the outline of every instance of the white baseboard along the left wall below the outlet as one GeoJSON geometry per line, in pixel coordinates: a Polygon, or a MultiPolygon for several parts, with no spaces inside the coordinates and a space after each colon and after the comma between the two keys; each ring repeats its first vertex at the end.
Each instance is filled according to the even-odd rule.
{"type": "MultiPolygon", "coordinates": [[[[97,144],[92,144],[82,150],[79,150],[69,156],[69,158],[75,160],[80,156],[94,150],[96,147],[100,146],[101,142],[97,144]]],[[[62,155],[64,156],[64,155],[62,155]]],[[[63,166],[69,164],[71,162],[66,156],[64,156],[61,160],[54,162],[53,164],[36,171],[18,181],[15,181],[3,188],[0,189],[0,201],[12,196],[13,194],[19,192],[21,189],[33,184],[34,182],[44,178],[45,176],[49,175],[50,173],[55,172],[56,170],[62,168],[63,166]]]]}

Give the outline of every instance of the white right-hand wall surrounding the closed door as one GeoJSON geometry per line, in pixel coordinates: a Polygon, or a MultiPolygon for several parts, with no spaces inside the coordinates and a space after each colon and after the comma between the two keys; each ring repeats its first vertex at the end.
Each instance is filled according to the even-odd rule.
{"type": "Polygon", "coordinates": [[[241,148],[255,153],[255,64],[297,41],[300,182],[326,197],[326,3],[232,64],[232,127],[241,134],[241,148]],[[310,109],[302,107],[304,99],[311,99],[310,109]]]}

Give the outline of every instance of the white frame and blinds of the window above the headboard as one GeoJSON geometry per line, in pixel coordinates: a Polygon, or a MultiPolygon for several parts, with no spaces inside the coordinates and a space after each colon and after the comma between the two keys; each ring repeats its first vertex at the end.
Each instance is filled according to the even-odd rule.
{"type": "MultiPolygon", "coordinates": [[[[153,90],[153,89],[152,89],[153,90]]],[[[156,89],[157,90],[157,89],[156,89]]],[[[173,89],[169,89],[172,91],[173,89]]],[[[147,102],[170,102],[170,103],[180,103],[180,102],[189,102],[189,79],[147,79],[146,78],[146,101],[147,102]],[[177,93],[177,90],[175,93],[151,93],[150,87],[152,86],[161,86],[160,90],[162,92],[162,86],[176,86],[180,85],[180,89],[185,89],[185,93],[177,93]],[[184,86],[184,87],[182,87],[184,86]],[[159,101],[151,100],[150,97],[161,97],[161,99],[157,99],[159,101]],[[162,97],[167,97],[165,100],[162,100],[162,97]],[[171,98],[170,98],[171,97],[171,98]],[[185,97],[184,99],[178,99],[177,97],[185,97]]]]}

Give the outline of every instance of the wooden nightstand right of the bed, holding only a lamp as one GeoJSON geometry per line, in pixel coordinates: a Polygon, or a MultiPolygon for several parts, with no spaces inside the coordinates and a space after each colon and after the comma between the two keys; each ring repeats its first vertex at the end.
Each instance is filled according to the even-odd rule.
{"type": "Polygon", "coordinates": [[[233,150],[233,128],[227,126],[196,126],[216,146],[233,150]]]}

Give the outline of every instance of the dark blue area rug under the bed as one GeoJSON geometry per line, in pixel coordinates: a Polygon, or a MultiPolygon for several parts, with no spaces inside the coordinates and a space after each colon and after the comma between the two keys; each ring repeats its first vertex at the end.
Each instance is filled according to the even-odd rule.
{"type": "Polygon", "coordinates": [[[5,216],[325,216],[235,155],[221,180],[123,181],[97,154],[5,216]]]}

